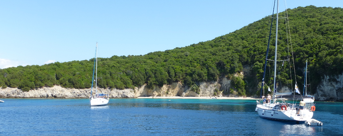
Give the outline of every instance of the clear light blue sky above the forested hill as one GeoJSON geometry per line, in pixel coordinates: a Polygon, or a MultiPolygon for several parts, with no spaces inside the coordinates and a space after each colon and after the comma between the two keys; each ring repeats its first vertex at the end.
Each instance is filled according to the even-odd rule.
{"type": "MultiPolygon", "coordinates": [[[[0,0],[0,68],[144,55],[212,40],[272,13],[273,0],[0,0]]],[[[343,7],[287,0],[287,8],[343,7]]],[[[283,11],[284,1],[280,0],[283,11]]]]}

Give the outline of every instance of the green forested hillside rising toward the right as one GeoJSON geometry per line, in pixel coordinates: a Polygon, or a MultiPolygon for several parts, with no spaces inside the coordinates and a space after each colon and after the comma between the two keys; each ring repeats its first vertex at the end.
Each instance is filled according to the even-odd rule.
{"type": "MultiPolygon", "coordinates": [[[[309,61],[308,70],[314,88],[322,76],[341,74],[343,71],[343,9],[298,7],[288,9],[288,19],[297,82],[304,80],[303,70],[306,59],[309,61]]],[[[226,76],[232,79],[232,90],[237,91],[239,95],[259,94],[256,79],[262,78],[270,21],[271,17],[265,17],[227,35],[173,50],[139,56],[99,58],[101,61],[98,62],[98,77],[102,77],[98,81],[99,87],[125,89],[147,83],[148,87],[153,88],[155,85],[162,86],[181,81],[197,92],[199,90],[197,83],[215,81],[220,76],[226,76]],[[243,66],[251,67],[251,74],[244,78],[233,76],[241,72],[243,66]]],[[[280,55],[278,56],[288,54],[286,31],[283,29],[285,26],[280,19],[278,40],[278,54],[280,55]]],[[[275,40],[271,39],[269,58],[274,56],[274,44],[275,40]]],[[[280,59],[287,58],[280,57],[280,59]]],[[[18,87],[23,91],[53,85],[90,88],[93,65],[94,58],[65,63],[56,62],[43,66],[0,69],[0,86],[18,87]]],[[[284,78],[283,75],[288,73],[287,70],[279,70],[280,83],[288,85],[295,82],[284,78]]],[[[230,93],[229,90],[223,91],[224,94],[230,93]]]]}

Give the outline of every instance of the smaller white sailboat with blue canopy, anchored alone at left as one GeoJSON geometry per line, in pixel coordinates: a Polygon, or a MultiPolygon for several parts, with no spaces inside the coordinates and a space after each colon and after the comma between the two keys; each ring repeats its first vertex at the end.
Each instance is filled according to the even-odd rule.
{"type": "Polygon", "coordinates": [[[90,96],[90,105],[91,106],[103,106],[107,105],[109,101],[109,97],[107,94],[98,93],[97,90],[97,68],[98,68],[98,43],[96,43],[95,49],[95,60],[94,60],[94,69],[93,69],[93,80],[92,80],[92,88],[91,88],[91,96],[90,96]],[[94,78],[95,73],[95,78],[94,78]],[[95,82],[95,96],[93,97],[93,83],[95,82]]]}

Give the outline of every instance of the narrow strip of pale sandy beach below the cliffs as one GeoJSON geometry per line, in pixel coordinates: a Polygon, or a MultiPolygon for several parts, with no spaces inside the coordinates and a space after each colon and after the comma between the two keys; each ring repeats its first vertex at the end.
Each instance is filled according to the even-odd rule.
{"type": "MultiPolygon", "coordinates": [[[[212,99],[215,97],[181,97],[181,96],[150,96],[150,97],[137,97],[137,98],[159,98],[159,99],[212,99]]],[[[217,99],[256,99],[256,98],[243,98],[243,97],[216,97],[217,99]]],[[[257,99],[258,100],[258,99],[257,99]]]]}

